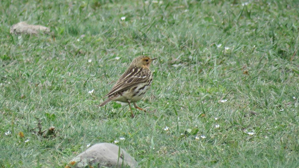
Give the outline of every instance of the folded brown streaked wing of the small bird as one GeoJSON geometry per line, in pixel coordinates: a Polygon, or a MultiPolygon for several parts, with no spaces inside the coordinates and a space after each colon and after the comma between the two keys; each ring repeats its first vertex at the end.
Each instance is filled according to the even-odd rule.
{"type": "Polygon", "coordinates": [[[115,85],[112,87],[109,93],[106,94],[106,96],[104,97],[132,88],[138,85],[139,83],[146,82],[147,80],[149,80],[149,77],[151,76],[150,73],[151,71],[145,68],[128,68],[121,75],[121,77],[115,83],[115,85]]]}

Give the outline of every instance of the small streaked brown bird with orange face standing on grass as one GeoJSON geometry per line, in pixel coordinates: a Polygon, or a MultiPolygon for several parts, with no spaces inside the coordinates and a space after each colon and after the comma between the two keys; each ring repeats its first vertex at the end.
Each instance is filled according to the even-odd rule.
{"type": "Polygon", "coordinates": [[[108,99],[101,103],[100,106],[104,106],[111,101],[128,103],[132,118],[134,114],[130,103],[133,103],[136,109],[145,111],[138,107],[136,102],[141,100],[152,85],[152,72],[149,70],[149,65],[155,59],[157,58],[151,59],[144,55],[135,58],[109,93],[104,96],[108,97],[108,99]]]}

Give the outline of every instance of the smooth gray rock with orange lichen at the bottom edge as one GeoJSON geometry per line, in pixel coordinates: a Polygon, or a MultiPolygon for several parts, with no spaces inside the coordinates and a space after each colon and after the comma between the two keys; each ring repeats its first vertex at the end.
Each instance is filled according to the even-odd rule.
{"type": "Polygon", "coordinates": [[[137,167],[137,162],[126,151],[111,143],[97,143],[73,158],[67,167],[81,168],[97,164],[98,167],[137,167]]]}

